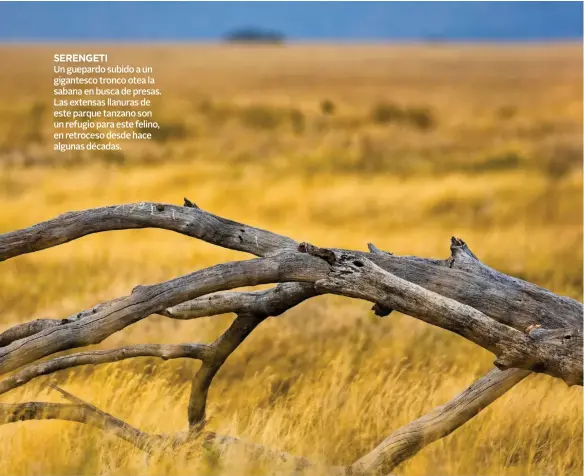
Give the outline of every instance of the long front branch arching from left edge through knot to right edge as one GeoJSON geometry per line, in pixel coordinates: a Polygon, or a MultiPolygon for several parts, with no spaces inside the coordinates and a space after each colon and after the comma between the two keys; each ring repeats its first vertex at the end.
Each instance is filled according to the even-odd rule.
{"type": "MultiPolygon", "coordinates": [[[[442,327],[497,356],[500,368],[524,368],[582,384],[582,331],[537,329],[526,334],[461,304],[401,279],[361,254],[302,244],[308,253],[283,252],[224,263],[152,286],[78,321],[50,328],[0,348],[0,373],[105,337],[169,306],[216,291],[274,282],[311,282],[319,292],[378,303],[442,327]],[[324,259],[322,259],[324,258],[324,259]]],[[[374,255],[377,256],[377,255],[374,255]]]]}

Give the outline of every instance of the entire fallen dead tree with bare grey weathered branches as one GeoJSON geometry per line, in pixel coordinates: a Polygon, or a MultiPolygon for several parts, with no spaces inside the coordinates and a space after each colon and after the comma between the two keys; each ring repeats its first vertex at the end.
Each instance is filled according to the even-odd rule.
{"type": "Polygon", "coordinates": [[[202,441],[220,450],[243,445],[256,456],[291,464],[294,471],[315,463],[206,430],[205,409],[213,377],[231,353],[266,318],[306,299],[332,293],[373,303],[380,316],[393,310],[454,332],[492,352],[494,368],[450,402],[396,430],[349,466],[331,474],[387,474],[425,445],[463,425],[531,372],[582,385],[582,304],[532,283],[500,273],[460,239],[446,260],[394,256],[369,244],[369,252],[324,249],[184,206],[137,203],[71,212],[30,228],[0,235],[0,261],[40,251],[83,236],[129,228],[163,228],[255,255],[206,268],[98,304],[63,319],[36,319],[0,334],[0,394],[31,380],[80,365],[141,356],[190,358],[202,365],[193,376],[188,430],[151,435],[120,421],[63,389],[70,403],[0,404],[0,424],[30,419],[86,423],[147,451],[165,451],[202,441]],[[279,283],[264,291],[233,292],[242,286],[279,283]],[[209,345],[149,344],[77,352],[101,342],[151,314],[196,319],[234,313],[232,325],[209,345]]]}

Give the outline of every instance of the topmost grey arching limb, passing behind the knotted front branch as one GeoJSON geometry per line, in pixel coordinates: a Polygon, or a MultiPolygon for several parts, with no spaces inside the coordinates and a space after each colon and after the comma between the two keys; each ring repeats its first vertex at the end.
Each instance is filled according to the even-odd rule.
{"type": "MultiPolygon", "coordinates": [[[[191,206],[141,202],[69,212],[29,228],[0,234],[0,261],[109,230],[163,228],[256,256],[296,249],[291,238],[218,217],[191,206]]],[[[464,247],[453,239],[446,260],[363,253],[396,276],[472,306],[519,330],[582,328],[582,305],[486,265],[466,266],[464,247]]],[[[375,248],[375,247],[374,247],[375,248]]],[[[377,249],[377,248],[375,248],[377,249]]],[[[340,250],[342,251],[342,250],[340,250]]],[[[379,250],[378,250],[379,251],[379,250]]]]}

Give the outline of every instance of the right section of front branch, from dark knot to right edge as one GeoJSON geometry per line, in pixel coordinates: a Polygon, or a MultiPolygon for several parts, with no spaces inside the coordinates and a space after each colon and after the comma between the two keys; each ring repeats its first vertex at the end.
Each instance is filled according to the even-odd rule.
{"type": "Polygon", "coordinates": [[[494,353],[500,369],[532,370],[559,377],[568,385],[582,385],[583,341],[578,328],[534,328],[526,334],[475,308],[398,278],[362,255],[306,243],[301,248],[331,265],[329,275],[315,281],[320,292],[379,303],[385,309],[454,332],[494,353]]]}

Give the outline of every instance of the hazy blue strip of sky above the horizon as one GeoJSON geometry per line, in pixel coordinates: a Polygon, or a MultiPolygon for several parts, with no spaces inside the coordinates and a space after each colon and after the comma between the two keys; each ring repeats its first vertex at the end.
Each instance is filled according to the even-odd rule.
{"type": "Polygon", "coordinates": [[[581,2],[0,2],[0,41],[217,41],[258,27],[291,41],[582,38],[581,2]]]}

